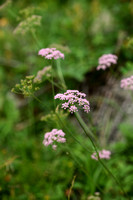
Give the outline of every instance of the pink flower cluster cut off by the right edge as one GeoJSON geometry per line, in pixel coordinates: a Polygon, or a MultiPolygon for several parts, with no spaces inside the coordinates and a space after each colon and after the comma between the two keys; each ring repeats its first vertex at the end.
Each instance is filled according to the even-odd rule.
{"type": "Polygon", "coordinates": [[[129,78],[124,78],[121,80],[121,88],[127,90],[133,90],[133,76],[130,76],[129,78]]]}

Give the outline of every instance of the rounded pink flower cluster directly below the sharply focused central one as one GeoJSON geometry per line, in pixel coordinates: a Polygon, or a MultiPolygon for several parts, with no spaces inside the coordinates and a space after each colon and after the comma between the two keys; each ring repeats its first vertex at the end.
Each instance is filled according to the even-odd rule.
{"type": "Polygon", "coordinates": [[[56,150],[56,142],[65,143],[66,138],[64,138],[65,133],[62,130],[53,129],[51,132],[47,132],[44,135],[43,144],[45,146],[52,145],[52,148],[56,150]]]}

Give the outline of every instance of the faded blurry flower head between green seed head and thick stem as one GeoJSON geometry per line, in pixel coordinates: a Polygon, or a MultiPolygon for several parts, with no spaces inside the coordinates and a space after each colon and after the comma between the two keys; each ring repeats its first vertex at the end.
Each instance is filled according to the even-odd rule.
{"type": "Polygon", "coordinates": [[[43,77],[51,76],[51,66],[44,67],[42,70],[39,70],[36,77],[34,78],[35,83],[41,83],[43,77]]]}

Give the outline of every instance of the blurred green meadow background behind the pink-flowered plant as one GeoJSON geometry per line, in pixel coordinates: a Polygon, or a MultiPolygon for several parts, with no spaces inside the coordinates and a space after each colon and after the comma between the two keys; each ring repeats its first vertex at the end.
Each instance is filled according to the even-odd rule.
{"type": "MultiPolygon", "coordinates": [[[[69,133],[56,152],[43,146],[44,133],[57,126],[50,83],[37,93],[43,105],[11,93],[26,75],[49,64],[37,55],[46,47],[65,54],[67,86],[88,95],[91,113],[83,117],[99,146],[112,151],[107,166],[133,199],[133,102],[120,89],[122,77],[133,73],[132,36],[132,0],[0,1],[0,199],[65,200],[75,176],[73,200],[127,199],[69,133]],[[96,71],[98,58],[107,53],[118,56],[118,65],[96,71]]],[[[89,147],[74,117],[62,118],[89,147]]]]}

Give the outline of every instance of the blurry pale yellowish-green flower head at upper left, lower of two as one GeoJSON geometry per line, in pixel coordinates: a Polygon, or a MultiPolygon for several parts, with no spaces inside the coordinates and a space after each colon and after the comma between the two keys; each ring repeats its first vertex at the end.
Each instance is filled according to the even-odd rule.
{"type": "Polygon", "coordinates": [[[14,30],[14,34],[22,34],[24,35],[28,31],[35,31],[35,27],[41,25],[41,19],[42,17],[39,15],[32,15],[25,19],[24,21],[21,21],[18,26],[14,30]]]}

